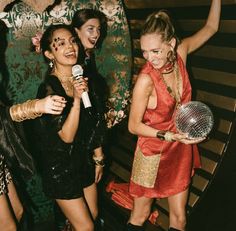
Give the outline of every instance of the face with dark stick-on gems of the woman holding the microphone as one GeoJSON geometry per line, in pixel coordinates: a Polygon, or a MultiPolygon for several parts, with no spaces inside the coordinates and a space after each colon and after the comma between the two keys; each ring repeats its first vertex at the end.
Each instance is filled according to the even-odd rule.
{"type": "Polygon", "coordinates": [[[46,51],[45,56],[51,60],[53,59],[56,67],[76,64],[78,45],[69,30],[65,28],[55,30],[51,41],[51,51],[46,51]]]}

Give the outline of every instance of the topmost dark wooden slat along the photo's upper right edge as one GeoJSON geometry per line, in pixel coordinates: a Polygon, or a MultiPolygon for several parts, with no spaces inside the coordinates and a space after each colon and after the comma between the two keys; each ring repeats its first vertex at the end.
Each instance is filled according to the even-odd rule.
{"type": "MultiPolygon", "coordinates": [[[[187,7],[187,6],[208,6],[210,5],[210,0],[124,0],[124,3],[128,9],[137,8],[165,8],[165,7],[187,7]]],[[[222,4],[231,5],[235,4],[234,0],[223,0],[222,4]]]]}

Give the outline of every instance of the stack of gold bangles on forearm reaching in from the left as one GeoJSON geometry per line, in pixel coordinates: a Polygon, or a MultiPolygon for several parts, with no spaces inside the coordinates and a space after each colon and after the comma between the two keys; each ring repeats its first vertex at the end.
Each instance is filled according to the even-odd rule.
{"type": "Polygon", "coordinates": [[[16,104],[11,106],[10,115],[13,121],[21,122],[26,119],[35,119],[42,115],[42,113],[36,112],[35,105],[38,99],[28,100],[22,104],[16,104]]]}

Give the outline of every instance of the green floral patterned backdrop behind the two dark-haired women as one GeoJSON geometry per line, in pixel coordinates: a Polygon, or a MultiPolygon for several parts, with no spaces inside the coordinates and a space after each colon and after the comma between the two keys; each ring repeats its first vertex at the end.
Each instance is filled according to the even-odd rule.
{"type": "MultiPolygon", "coordinates": [[[[47,67],[42,55],[32,50],[31,38],[50,24],[69,24],[74,12],[81,8],[99,9],[108,18],[108,34],[102,49],[96,52],[96,60],[99,72],[110,87],[107,125],[112,127],[127,115],[131,82],[131,41],[121,0],[61,1],[52,10],[42,12],[36,12],[30,1],[17,1],[7,12],[1,12],[0,19],[9,28],[5,53],[9,73],[6,93],[14,103],[35,97],[47,67]]],[[[47,219],[52,212],[52,204],[40,192],[40,185],[37,176],[28,182],[28,191],[38,207],[33,210],[36,222],[47,219]]]]}

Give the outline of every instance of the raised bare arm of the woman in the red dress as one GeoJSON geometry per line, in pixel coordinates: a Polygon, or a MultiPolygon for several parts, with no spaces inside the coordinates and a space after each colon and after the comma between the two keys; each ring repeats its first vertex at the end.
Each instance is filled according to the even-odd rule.
{"type": "Polygon", "coordinates": [[[183,39],[178,47],[178,53],[184,61],[189,53],[201,47],[219,28],[221,0],[212,0],[211,8],[205,25],[194,35],[183,39]]]}

